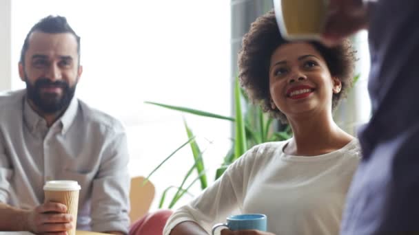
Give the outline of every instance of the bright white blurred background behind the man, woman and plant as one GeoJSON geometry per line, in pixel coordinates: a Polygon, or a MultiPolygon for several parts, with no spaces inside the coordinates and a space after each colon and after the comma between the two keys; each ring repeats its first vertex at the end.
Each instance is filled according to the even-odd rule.
{"type": "MultiPolygon", "coordinates": [[[[76,96],[123,122],[130,174],[147,176],[185,143],[185,119],[205,151],[211,182],[232,148],[232,122],[144,102],[232,116],[241,38],[250,23],[271,8],[271,0],[0,0],[0,91],[25,88],[17,65],[30,27],[49,14],[65,16],[81,36],[84,71],[76,96]]],[[[367,32],[352,40],[360,78],[334,115],[355,135],[370,113],[367,32]]],[[[163,191],[178,186],[194,164],[190,152],[182,148],[152,175],[156,187],[152,210],[163,191]]],[[[191,194],[174,208],[200,191],[198,184],[192,186],[191,194]]]]}

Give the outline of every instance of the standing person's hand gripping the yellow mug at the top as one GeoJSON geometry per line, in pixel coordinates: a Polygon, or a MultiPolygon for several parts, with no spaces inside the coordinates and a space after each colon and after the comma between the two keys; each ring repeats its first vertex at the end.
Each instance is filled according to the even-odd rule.
{"type": "Polygon", "coordinates": [[[343,38],[368,27],[368,8],[362,0],[330,0],[323,43],[336,45],[343,38]]]}

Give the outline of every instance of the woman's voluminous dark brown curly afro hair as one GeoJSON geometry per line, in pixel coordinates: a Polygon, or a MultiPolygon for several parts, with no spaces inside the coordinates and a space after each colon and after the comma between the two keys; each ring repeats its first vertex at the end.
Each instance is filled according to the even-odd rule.
{"type": "MultiPolygon", "coordinates": [[[[290,43],[280,36],[274,10],[258,17],[243,36],[242,48],[238,54],[238,77],[247,96],[265,112],[287,123],[287,117],[278,109],[272,109],[269,94],[269,63],[272,54],[280,45],[290,43]]],[[[316,41],[309,41],[325,58],[331,76],[342,82],[340,93],[332,97],[332,109],[346,97],[354,74],[355,51],[349,40],[335,47],[325,47],[316,41]]]]}

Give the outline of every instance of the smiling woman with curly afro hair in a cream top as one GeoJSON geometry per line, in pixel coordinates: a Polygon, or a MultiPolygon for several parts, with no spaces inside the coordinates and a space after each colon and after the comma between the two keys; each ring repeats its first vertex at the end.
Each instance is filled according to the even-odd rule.
{"type": "Polygon", "coordinates": [[[214,223],[237,211],[267,216],[267,232],[254,234],[338,234],[360,160],[357,139],[331,114],[332,103],[351,86],[354,53],[349,42],[329,48],[285,41],[270,11],[252,23],[238,61],[238,76],[250,100],[289,122],[293,137],[248,150],[212,186],[174,212],[164,234],[207,234],[214,223]]]}

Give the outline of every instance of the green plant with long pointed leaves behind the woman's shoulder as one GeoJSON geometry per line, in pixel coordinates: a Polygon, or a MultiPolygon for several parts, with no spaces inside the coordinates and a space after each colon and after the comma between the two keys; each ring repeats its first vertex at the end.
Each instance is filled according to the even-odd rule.
{"type": "MultiPolygon", "coordinates": [[[[245,96],[245,93],[240,88],[238,78],[236,78],[234,82],[234,117],[227,117],[223,115],[218,115],[216,113],[209,113],[206,111],[190,109],[187,107],[178,107],[156,102],[145,103],[153,104],[159,107],[164,107],[166,109],[181,111],[184,113],[191,113],[203,117],[217,118],[229,122],[234,122],[235,136],[232,139],[232,148],[223,158],[221,166],[216,170],[215,179],[221,177],[227,166],[229,166],[229,164],[232,164],[232,162],[238,159],[238,157],[241,157],[241,155],[243,155],[243,153],[245,153],[245,151],[249,148],[252,148],[252,146],[255,146],[256,144],[261,144],[263,142],[285,140],[289,139],[289,137],[292,136],[291,130],[288,125],[283,126],[282,131],[274,131],[274,119],[272,117],[269,117],[269,115],[263,113],[260,107],[258,107],[258,105],[249,102],[249,100],[245,96]],[[242,107],[245,107],[244,111],[242,110],[242,107]]],[[[192,166],[189,170],[187,170],[187,172],[185,172],[185,177],[183,177],[183,181],[179,184],[179,186],[167,186],[167,188],[165,188],[159,202],[159,208],[163,208],[163,205],[165,205],[165,202],[169,197],[169,192],[172,192],[172,190],[176,191],[174,192],[174,194],[172,194],[167,208],[173,208],[176,202],[179,199],[181,199],[181,197],[183,197],[185,194],[187,194],[188,190],[190,190],[190,188],[197,181],[199,181],[199,183],[201,184],[201,190],[204,190],[208,186],[208,179],[207,174],[205,173],[206,169],[203,161],[203,151],[201,150],[201,148],[199,148],[198,144],[196,143],[195,135],[194,133],[192,133],[192,129],[190,128],[190,126],[187,125],[187,122],[185,120],[183,121],[183,124],[185,126],[185,131],[188,137],[187,141],[178,148],[176,148],[176,150],[174,150],[163,161],[161,161],[159,166],[156,166],[156,168],[154,168],[154,170],[150,172],[150,175],[147,176],[147,179],[152,177],[154,172],[159,170],[159,168],[163,166],[163,164],[165,164],[165,162],[168,159],[174,157],[178,150],[181,150],[186,146],[190,146],[193,157],[192,166]],[[191,177],[194,171],[196,171],[198,176],[195,177],[192,180],[192,182],[186,183],[188,179],[192,179],[191,177]]]]}

